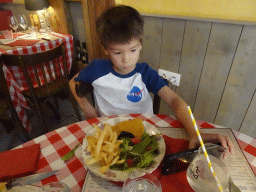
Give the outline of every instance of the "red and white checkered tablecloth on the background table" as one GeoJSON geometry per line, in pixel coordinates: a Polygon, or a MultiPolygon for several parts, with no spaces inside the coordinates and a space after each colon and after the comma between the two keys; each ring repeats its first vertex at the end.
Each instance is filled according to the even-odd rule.
{"type": "MultiPolygon", "coordinates": [[[[72,65],[72,59],[73,59],[73,36],[72,35],[63,35],[58,33],[52,33],[55,37],[58,37],[56,40],[53,41],[47,41],[44,43],[37,43],[31,46],[24,46],[19,48],[13,48],[11,50],[0,50],[0,56],[1,54],[33,54],[33,53],[39,53],[42,51],[47,51],[50,49],[53,49],[63,43],[66,47],[66,56],[67,56],[67,64],[69,67],[69,70],[71,69],[72,65]]],[[[28,107],[28,103],[25,99],[25,97],[22,94],[23,90],[28,89],[28,85],[25,82],[25,77],[23,75],[22,69],[17,67],[6,67],[4,66],[4,73],[5,73],[5,79],[7,86],[9,88],[10,96],[12,99],[12,103],[14,105],[14,108],[17,111],[17,114],[23,124],[23,126],[28,131],[32,131],[32,128],[30,126],[29,120],[26,115],[25,108],[28,107]]],[[[39,72],[40,74],[40,72],[39,72]]],[[[42,74],[42,73],[41,73],[42,74]]],[[[34,76],[34,72],[31,71],[31,76],[34,76]]],[[[43,80],[43,76],[40,78],[43,80]]],[[[37,85],[34,84],[36,87],[37,85]]]]}

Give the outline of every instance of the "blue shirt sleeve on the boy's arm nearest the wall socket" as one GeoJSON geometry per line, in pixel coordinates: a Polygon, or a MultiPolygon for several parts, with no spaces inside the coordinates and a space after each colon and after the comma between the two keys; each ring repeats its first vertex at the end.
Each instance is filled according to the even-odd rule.
{"type": "Polygon", "coordinates": [[[149,67],[148,64],[140,64],[140,73],[142,74],[142,81],[146,84],[149,92],[157,94],[164,86],[168,85],[166,79],[158,75],[157,71],[149,67]]]}

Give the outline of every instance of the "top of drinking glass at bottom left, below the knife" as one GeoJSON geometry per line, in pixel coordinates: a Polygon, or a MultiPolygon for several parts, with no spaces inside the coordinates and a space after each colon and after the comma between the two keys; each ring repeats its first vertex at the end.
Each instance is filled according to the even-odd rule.
{"type": "Polygon", "coordinates": [[[52,182],[41,187],[38,192],[71,192],[70,188],[62,182],[52,182]]]}

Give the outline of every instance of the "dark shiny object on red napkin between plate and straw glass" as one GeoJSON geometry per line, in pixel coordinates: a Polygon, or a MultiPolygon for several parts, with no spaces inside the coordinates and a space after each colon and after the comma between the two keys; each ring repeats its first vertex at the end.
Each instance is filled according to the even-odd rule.
{"type": "MultiPolygon", "coordinates": [[[[216,143],[221,146],[221,143],[216,143]]],[[[164,175],[176,173],[187,170],[189,163],[191,163],[196,156],[199,147],[188,149],[179,153],[174,153],[164,157],[161,165],[161,170],[164,175]]]]}

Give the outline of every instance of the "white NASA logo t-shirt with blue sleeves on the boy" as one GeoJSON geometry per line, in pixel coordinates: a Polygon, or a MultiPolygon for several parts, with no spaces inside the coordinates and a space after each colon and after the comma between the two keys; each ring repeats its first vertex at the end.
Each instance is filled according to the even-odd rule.
{"type": "Polygon", "coordinates": [[[94,60],[75,81],[91,83],[95,107],[103,116],[153,114],[149,92],[157,94],[167,83],[146,63],[126,74],[117,73],[109,60],[94,60]]]}

